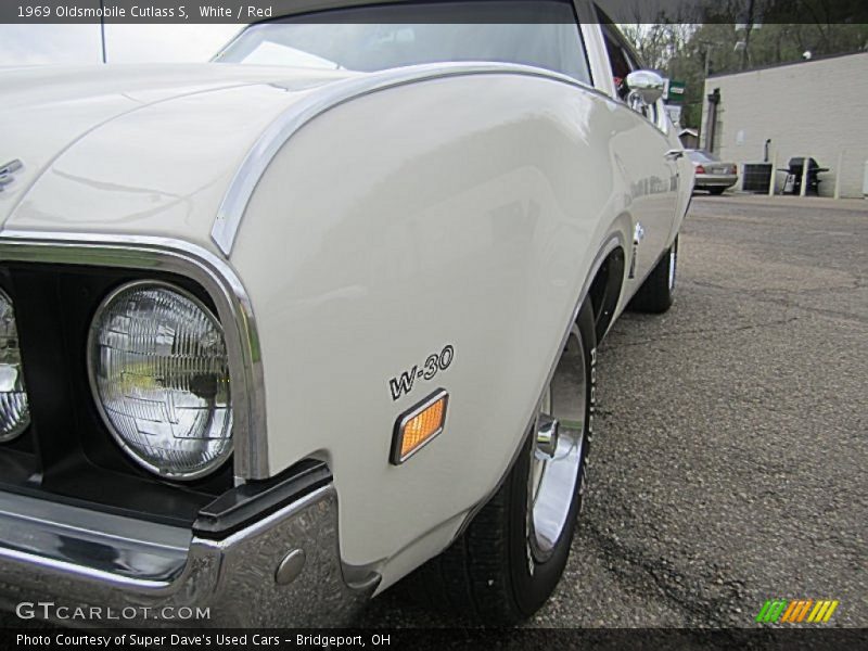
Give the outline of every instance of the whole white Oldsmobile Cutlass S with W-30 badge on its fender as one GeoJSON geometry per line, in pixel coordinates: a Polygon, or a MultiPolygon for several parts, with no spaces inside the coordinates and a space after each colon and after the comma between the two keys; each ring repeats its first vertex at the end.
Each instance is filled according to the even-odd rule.
{"type": "Polygon", "coordinates": [[[7,608],[330,625],[407,577],[513,623],[557,585],[596,346],[673,301],[662,80],[589,0],[316,5],[2,73],[7,608]]]}

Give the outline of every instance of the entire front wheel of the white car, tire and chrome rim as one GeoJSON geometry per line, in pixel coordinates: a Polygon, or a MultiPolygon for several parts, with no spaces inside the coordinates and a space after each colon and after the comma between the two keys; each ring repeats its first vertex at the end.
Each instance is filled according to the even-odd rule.
{"type": "Polygon", "coordinates": [[[533,615],[560,580],[587,482],[596,363],[583,307],[512,470],[464,533],[410,577],[429,605],[486,625],[533,615]]]}

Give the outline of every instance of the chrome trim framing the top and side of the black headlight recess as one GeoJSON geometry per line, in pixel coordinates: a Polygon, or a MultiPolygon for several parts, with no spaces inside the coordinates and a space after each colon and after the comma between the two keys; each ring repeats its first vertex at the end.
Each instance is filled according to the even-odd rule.
{"type": "MultiPolygon", "coordinates": [[[[234,473],[240,481],[269,476],[266,396],[256,320],[250,297],[222,259],[170,238],[0,231],[0,260],[168,271],[199,282],[226,331],[232,391],[234,473]]],[[[84,354],[84,352],[82,352],[84,354]]]]}

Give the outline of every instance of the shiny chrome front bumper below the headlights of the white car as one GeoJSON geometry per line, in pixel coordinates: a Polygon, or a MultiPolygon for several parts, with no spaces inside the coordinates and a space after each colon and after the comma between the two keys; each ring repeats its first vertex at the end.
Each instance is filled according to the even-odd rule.
{"type": "Polygon", "coordinates": [[[340,626],[375,587],[344,580],[331,484],[217,540],[0,494],[0,605],[25,618],[48,613],[98,627],[340,626]]]}

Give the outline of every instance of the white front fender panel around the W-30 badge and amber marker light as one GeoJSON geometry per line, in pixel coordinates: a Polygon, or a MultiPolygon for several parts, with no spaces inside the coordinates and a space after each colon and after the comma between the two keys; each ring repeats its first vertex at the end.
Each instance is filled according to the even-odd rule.
{"type": "Polygon", "coordinates": [[[508,71],[403,85],[310,120],[251,196],[231,260],[256,306],[270,471],[329,461],[343,560],[381,587],[451,540],[526,432],[623,213],[610,104],[508,71]],[[390,380],[446,346],[449,368],[395,398],[390,380]],[[444,433],[391,465],[396,419],[438,387],[444,433]]]}

